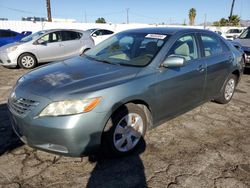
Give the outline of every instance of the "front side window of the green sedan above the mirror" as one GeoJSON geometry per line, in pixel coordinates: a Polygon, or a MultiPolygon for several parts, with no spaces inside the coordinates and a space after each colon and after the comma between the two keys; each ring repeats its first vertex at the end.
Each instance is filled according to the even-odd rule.
{"type": "Polygon", "coordinates": [[[179,38],[169,50],[167,57],[183,57],[186,61],[198,58],[198,49],[193,35],[185,35],[179,38]]]}

